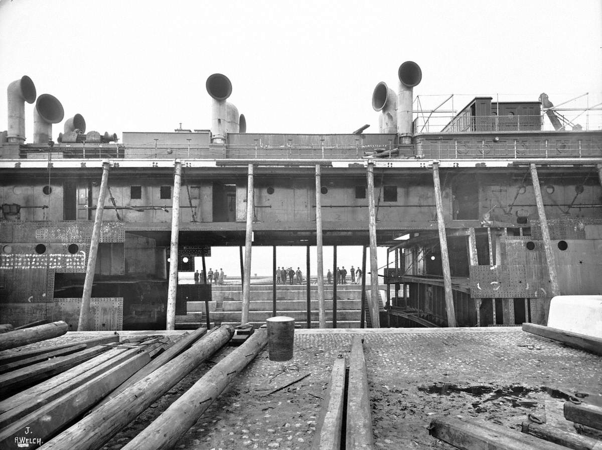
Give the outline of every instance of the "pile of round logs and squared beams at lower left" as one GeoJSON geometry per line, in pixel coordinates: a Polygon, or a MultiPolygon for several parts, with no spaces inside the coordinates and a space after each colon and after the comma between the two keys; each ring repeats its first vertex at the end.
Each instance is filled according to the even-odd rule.
{"type": "MultiPolygon", "coordinates": [[[[1,449],[101,448],[234,334],[226,325],[121,341],[117,333],[90,333],[71,344],[52,339],[66,331],[64,322],[54,322],[0,334],[1,449]]],[[[200,405],[190,401],[190,418],[200,416],[266,342],[265,332],[255,333],[209,370],[188,395],[206,397],[200,405]]]]}

